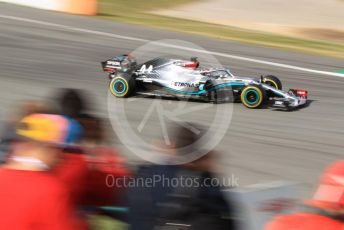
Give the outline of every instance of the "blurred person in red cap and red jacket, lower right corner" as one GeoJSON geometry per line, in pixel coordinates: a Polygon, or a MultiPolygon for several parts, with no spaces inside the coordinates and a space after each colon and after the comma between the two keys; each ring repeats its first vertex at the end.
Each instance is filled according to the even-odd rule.
{"type": "Polygon", "coordinates": [[[304,202],[302,211],[278,216],[265,229],[344,229],[344,161],[335,162],[324,171],[313,199],[304,202]]]}

